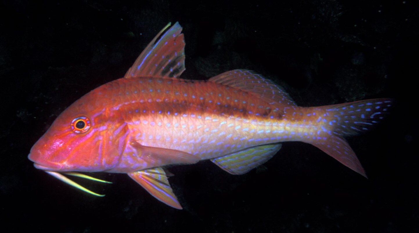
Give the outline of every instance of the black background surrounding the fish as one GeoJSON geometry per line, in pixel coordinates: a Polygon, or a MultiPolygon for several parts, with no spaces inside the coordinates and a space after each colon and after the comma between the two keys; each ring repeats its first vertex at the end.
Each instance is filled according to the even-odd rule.
{"type": "Polygon", "coordinates": [[[415,1],[1,1],[0,223],[4,232],[418,232],[415,1]],[[304,143],[241,176],[209,161],[174,166],[184,210],[125,174],[74,179],[35,169],[31,146],[67,106],[122,77],[169,21],[186,40],[185,79],[253,69],[298,105],[396,99],[348,138],[369,179],[304,143]]]}

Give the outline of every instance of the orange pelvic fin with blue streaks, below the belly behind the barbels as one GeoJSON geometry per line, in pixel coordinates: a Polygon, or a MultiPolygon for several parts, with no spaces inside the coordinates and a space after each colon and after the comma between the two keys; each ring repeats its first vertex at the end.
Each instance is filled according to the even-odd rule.
{"type": "Polygon", "coordinates": [[[128,175],[159,201],[176,209],[182,209],[161,167],[132,172],[128,175]]]}

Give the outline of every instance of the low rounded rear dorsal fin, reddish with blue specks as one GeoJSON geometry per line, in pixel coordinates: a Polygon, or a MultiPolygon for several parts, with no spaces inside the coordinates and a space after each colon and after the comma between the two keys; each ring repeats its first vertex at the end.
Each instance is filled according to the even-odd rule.
{"type": "Polygon", "coordinates": [[[281,111],[285,108],[297,107],[282,87],[251,70],[230,70],[210,78],[209,81],[252,92],[253,95],[276,106],[281,111]]]}

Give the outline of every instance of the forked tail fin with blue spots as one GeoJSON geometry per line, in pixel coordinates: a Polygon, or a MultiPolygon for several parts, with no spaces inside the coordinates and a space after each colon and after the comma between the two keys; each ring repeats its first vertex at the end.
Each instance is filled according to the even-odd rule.
{"type": "Polygon", "coordinates": [[[388,113],[392,99],[361,100],[337,105],[315,107],[323,113],[323,132],[326,140],[311,144],[332,156],[345,166],[367,177],[360,161],[343,138],[370,130],[388,113]]]}

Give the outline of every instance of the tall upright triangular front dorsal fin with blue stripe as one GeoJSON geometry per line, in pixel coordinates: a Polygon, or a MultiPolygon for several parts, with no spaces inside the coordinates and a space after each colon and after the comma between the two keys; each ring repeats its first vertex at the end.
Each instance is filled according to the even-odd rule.
{"type": "Polygon", "coordinates": [[[125,78],[178,77],[184,72],[185,40],[184,35],[181,34],[182,27],[176,22],[166,31],[170,25],[171,23],[168,23],[147,45],[132,67],[128,69],[125,78]]]}

